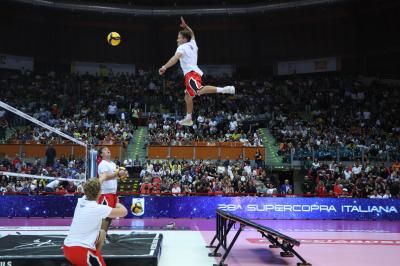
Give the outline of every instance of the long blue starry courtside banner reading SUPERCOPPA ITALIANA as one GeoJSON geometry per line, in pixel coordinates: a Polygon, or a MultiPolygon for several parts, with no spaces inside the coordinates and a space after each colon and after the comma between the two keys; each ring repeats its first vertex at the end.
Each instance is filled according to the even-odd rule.
{"type": "MultiPolygon", "coordinates": [[[[1,196],[0,217],[72,217],[75,196],[1,196]]],[[[400,220],[400,200],[145,196],[120,197],[127,218],[213,218],[217,208],[248,219],[400,220]]]]}

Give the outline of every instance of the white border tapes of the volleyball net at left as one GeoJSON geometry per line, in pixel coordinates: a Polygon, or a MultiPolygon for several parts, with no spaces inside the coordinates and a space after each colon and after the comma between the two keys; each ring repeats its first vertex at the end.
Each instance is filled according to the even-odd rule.
{"type": "MultiPolygon", "coordinates": [[[[30,116],[30,115],[18,110],[17,108],[14,108],[11,105],[6,104],[3,101],[0,101],[0,107],[2,107],[4,109],[6,109],[7,111],[10,111],[10,112],[18,115],[18,116],[20,116],[22,118],[25,118],[26,120],[31,121],[32,123],[34,123],[34,124],[36,124],[38,126],[41,126],[41,127],[45,128],[45,129],[47,129],[47,130],[49,130],[49,131],[51,131],[51,132],[53,132],[53,133],[55,133],[57,135],[60,135],[61,137],[66,138],[66,139],[72,141],[73,143],[76,143],[76,144],[78,144],[80,146],[85,147],[85,155],[86,155],[86,158],[85,158],[85,178],[87,178],[87,173],[86,173],[87,167],[88,167],[88,165],[87,165],[87,159],[88,159],[88,144],[87,144],[87,142],[83,142],[83,141],[80,141],[80,140],[78,140],[76,138],[73,138],[73,137],[61,132],[60,130],[58,130],[58,129],[54,128],[54,127],[51,127],[51,126],[43,123],[42,121],[39,121],[36,118],[34,118],[34,117],[32,117],[32,116],[30,116]]],[[[41,179],[48,179],[48,180],[51,180],[51,179],[62,180],[62,178],[58,178],[58,177],[49,177],[49,176],[43,177],[43,176],[40,176],[40,175],[18,174],[18,173],[11,173],[11,172],[3,172],[3,174],[8,175],[8,176],[15,176],[15,177],[41,178],[41,179]]],[[[77,181],[77,180],[72,180],[72,179],[68,179],[68,180],[69,181],[77,181]]]]}

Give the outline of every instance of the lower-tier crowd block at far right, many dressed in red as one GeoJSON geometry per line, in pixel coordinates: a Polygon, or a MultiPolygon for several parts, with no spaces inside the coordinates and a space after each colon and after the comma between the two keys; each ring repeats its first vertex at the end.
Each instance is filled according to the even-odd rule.
{"type": "Polygon", "coordinates": [[[301,186],[309,196],[398,198],[400,199],[400,163],[387,167],[384,163],[345,166],[332,161],[323,164],[306,161],[307,175],[301,186]]]}

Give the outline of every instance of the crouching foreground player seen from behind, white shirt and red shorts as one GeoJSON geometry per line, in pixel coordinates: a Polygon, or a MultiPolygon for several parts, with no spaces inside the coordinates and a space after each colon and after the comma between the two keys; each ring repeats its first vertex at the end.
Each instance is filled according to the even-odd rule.
{"type": "Polygon", "coordinates": [[[78,199],[68,236],[64,240],[64,255],[72,265],[104,266],[101,248],[106,232],[100,229],[102,220],[124,217],[128,211],[120,203],[111,208],[96,202],[100,195],[100,182],[97,179],[86,182],[83,190],[85,195],[78,199]]]}

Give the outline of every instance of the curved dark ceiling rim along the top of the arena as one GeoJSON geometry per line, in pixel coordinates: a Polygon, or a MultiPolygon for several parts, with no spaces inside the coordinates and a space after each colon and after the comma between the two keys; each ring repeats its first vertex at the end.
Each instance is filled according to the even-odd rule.
{"type": "MultiPolygon", "coordinates": [[[[14,0],[13,3],[73,11],[101,12],[106,14],[127,14],[138,16],[174,15],[246,15],[266,13],[293,8],[351,3],[359,0],[204,0],[204,1],[162,1],[162,0],[14,0]]],[[[8,1],[11,2],[11,1],[8,1]]]]}

